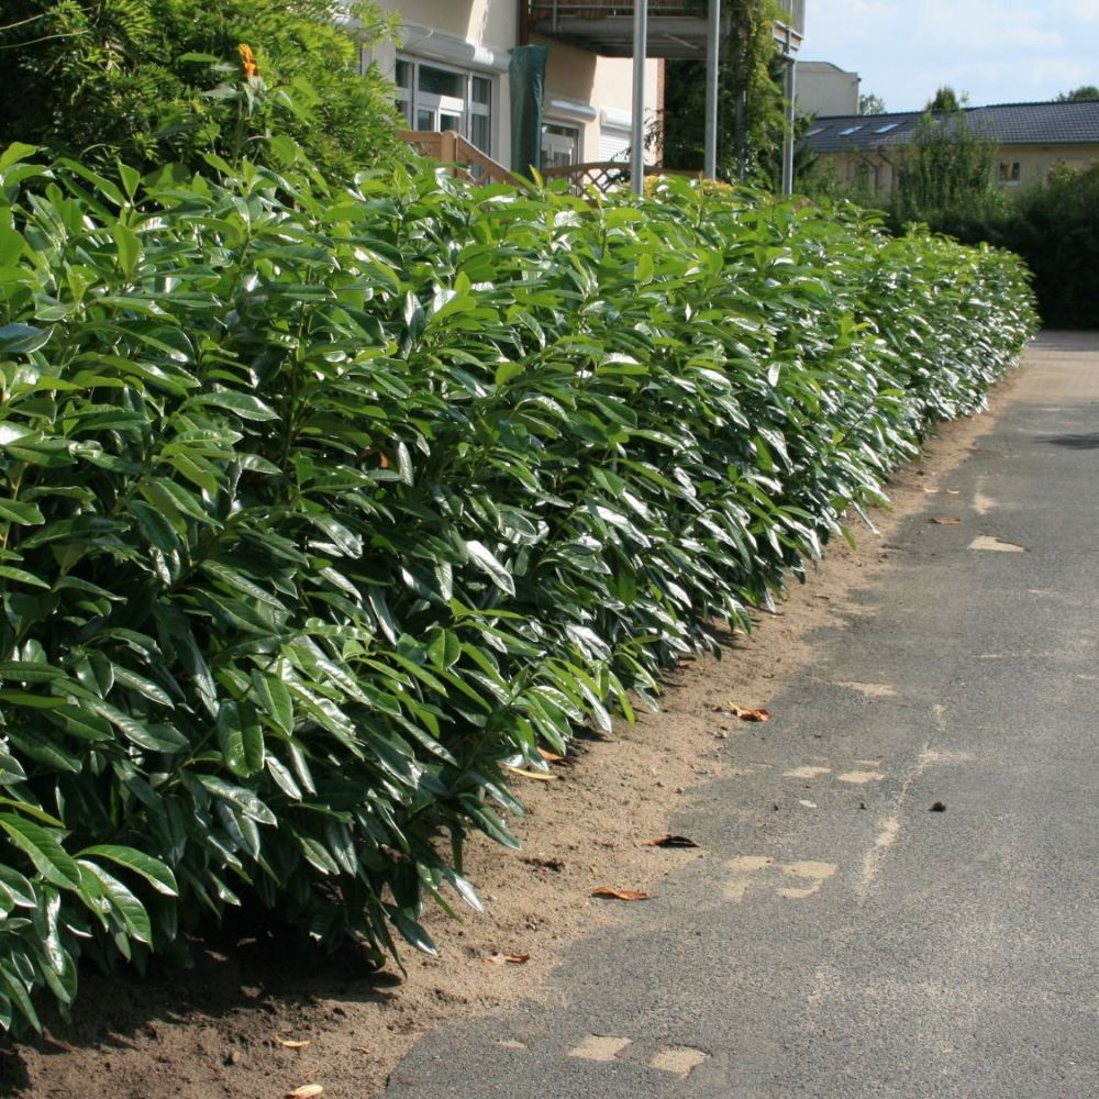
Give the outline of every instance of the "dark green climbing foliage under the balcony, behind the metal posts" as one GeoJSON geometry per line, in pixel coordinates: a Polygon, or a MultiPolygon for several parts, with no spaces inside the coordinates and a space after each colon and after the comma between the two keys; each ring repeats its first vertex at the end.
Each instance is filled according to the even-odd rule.
{"type": "MultiPolygon", "coordinates": [[[[718,91],[718,174],[773,185],[786,135],[784,62],[773,33],[774,0],[726,0],[730,33],[721,46],[718,91]]],[[[650,132],[667,168],[702,167],[706,148],[706,63],[669,60],[664,112],[650,132]]]]}

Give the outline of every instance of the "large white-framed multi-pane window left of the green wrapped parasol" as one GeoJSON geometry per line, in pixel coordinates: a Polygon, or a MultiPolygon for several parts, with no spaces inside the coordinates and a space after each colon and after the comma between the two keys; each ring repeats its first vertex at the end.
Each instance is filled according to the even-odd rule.
{"type": "Polygon", "coordinates": [[[398,57],[397,109],[410,130],[453,130],[492,155],[492,77],[414,57],[398,57]]]}

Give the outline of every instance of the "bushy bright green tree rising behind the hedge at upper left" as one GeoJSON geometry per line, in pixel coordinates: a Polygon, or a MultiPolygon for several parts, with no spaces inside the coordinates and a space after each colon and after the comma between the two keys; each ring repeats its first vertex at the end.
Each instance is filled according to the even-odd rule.
{"type": "Polygon", "coordinates": [[[274,127],[347,174],[397,148],[391,89],[358,71],[358,35],[388,26],[368,2],[5,0],[0,146],[148,168],[262,158],[274,127]]]}

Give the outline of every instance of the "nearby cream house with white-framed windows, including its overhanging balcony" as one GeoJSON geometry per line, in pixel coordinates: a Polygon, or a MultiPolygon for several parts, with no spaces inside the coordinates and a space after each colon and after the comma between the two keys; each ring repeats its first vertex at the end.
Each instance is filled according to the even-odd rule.
{"type": "MultiPolygon", "coordinates": [[[[517,46],[548,47],[542,165],[624,160],[634,144],[633,0],[378,0],[401,16],[400,44],[371,59],[397,87],[411,131],[453,131],[500,165],[512,160],[509,66],[517,46]]],[[[719,0],[648,0],[643,118],[663,106],[664,59],[704,60],[725,29],[719,0]]],[[[791,60],[804,0],[779,0],[775,35],[791,60]]],[[[656,159],[657,151],[646,153],[656,159]]],[[[790,153],[792,163],[792,148],[790,153]]]]}

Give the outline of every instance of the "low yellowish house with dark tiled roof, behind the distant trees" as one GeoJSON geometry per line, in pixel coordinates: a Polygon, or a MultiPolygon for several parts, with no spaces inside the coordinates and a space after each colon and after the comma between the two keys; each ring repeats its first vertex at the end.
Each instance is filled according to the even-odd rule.
{"type": "MultiPolygon", "coordinates": [[[[922,116],[912,111],[818,118],[802,141],[844,182],[888,195],[922,116]]],[[[975,134],[996,144],[1001,187],[1041,182],[1058,164],[1099,163],[1099,99],[969,107],[962,116],[975,134]]]]}

